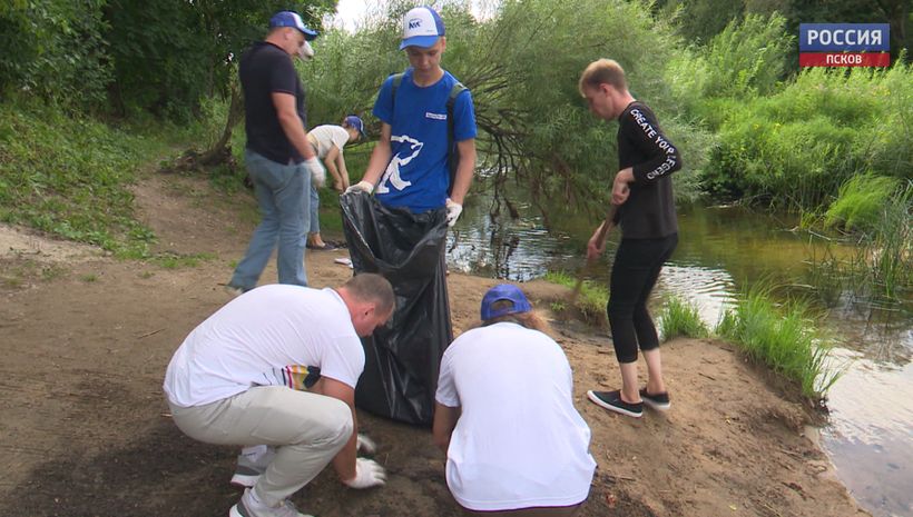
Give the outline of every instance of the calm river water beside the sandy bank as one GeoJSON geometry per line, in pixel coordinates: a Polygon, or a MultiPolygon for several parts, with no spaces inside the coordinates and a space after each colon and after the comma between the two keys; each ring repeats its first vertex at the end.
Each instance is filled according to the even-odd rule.
{"type": "MultiPolygon", "coordinates": [[[[517,220],[492,221],[490,197],[478,195],[451,232],[451,269],[513,281],[546,271],[577,271],[598,220],[561,221],[546,230],[520,206],[517,220]]],[[[795,221],[738,208],[679,211],[679,246],[659,278],[654,302],[677,295],[695,304],[713,328],[740,289],[765,279],[808,291],[817,276],[808,258],[852,249],[795,231],[795,221]]],[[[617,233],[609,237],[593,280],[607,282],[617,233]]],[[[822,445],[851,494],[876,517],[913,516],[913,314],[873,309],[836,294],[825,329],[837,340],[833,361],[844,374],[828,392],[822,445]]]]}

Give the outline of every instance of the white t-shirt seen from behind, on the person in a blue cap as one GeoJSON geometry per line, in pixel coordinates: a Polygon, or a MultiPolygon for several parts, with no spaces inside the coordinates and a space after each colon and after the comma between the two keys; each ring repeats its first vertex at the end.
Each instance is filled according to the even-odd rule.
{"type": "Polygon", "coordinates": [[[507,510],[586,499],[596,461],[572,397],[568,359],[544,334],[501,322],[457,338],[435,395],[462,409],[446,455],[457,501],[507,510]]]}

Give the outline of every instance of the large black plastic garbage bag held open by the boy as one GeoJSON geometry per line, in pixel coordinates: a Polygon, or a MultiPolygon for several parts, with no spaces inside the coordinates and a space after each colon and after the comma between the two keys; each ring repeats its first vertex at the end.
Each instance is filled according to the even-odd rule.
{"type": "Polygon", "coordinates": [[[355,405],[375,415],[430,426],[441,356],[453,340],[446,292],[446,210],[414,215],[363,192],[340,197],[356,274],[376,272],[393,285],[396,310],[363,338],[364,374],[355,405]]]}

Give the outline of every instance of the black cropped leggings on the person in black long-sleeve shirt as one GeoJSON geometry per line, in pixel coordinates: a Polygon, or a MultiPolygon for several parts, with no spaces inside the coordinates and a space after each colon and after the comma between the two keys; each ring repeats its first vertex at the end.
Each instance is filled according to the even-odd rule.
{"type": "Polygon", "coordinates": [[[606,308],[618,362],[635,362],[638,345],[645,351],[659,347],[647,301],[677,245],[678,233],[673,233],[661,239],[621,240],[618,246],[606,308]]]}

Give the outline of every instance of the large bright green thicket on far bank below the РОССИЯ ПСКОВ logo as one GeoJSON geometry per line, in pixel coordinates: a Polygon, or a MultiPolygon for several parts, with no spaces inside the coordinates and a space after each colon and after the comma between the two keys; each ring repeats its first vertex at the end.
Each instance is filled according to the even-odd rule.
{"type": "Polygon", "coordinates": [[[861,171],[909,175],[912,76],[904,64],[812,69],[773,96],[724,105],[705,187],[717,198],[814,210],[861,171]]]}

